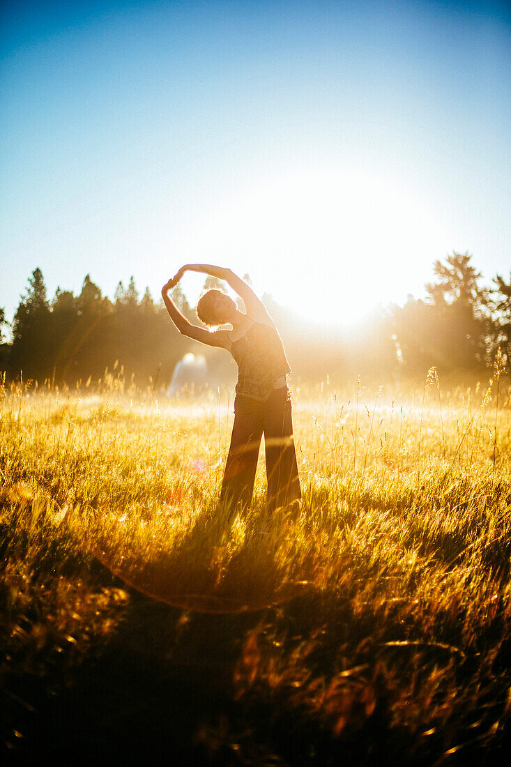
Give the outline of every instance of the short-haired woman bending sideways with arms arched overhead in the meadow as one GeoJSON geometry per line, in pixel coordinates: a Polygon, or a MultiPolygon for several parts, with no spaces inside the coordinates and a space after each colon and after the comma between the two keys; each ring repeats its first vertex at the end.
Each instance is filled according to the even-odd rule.
{"type": "Polygon", "coordinates": [[[262,301],[230,269],[209,264],[188,264],[162,288],[163,301],[176,328],[203,344],[227,349],[238,364],[234,425],[223,475],[220,500],[232,509],[252,500],[261,437],[265,435],[269,509],[302,497],[287,376],[291,372],[284,347],[262,301]],[[210,327],[230,324],[231,330],[207,331],[191,324],[169,297],[185,272],[203,272],[224,280],[242,298],[239,311],[223,291],[207,291],[197,304],[197,316],[210,327]]]}

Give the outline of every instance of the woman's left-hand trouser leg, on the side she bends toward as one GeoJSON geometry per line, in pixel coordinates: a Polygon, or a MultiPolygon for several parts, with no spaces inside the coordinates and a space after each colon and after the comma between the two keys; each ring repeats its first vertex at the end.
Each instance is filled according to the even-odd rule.
{"type": "Polygon", "coordinates": [[[254,490],[255,469],[262,437],[260,407],[249,407],[249,411],[235,409],[231,444],[223,472],[220,502],[236,509],[249,506],[254,490]]]}

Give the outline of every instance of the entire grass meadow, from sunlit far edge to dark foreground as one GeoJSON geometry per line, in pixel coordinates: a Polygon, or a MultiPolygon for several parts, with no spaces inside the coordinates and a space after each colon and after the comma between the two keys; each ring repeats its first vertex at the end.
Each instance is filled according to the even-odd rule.
{"type": "Polygon", "coordinates": [[[11,759],[500,764],[511,390],[295,383],[303,499],[228,518],[232,400],[0,388],[11,759]]]}

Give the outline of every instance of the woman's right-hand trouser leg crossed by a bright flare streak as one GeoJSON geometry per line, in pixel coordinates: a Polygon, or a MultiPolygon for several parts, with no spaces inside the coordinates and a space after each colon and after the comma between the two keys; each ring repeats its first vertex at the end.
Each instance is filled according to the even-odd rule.
{"type": "Polygon", "coordinates": [[[302,498],[288,392],[275,393],[264,417],[268,508],[288,505],[302,498]]]}

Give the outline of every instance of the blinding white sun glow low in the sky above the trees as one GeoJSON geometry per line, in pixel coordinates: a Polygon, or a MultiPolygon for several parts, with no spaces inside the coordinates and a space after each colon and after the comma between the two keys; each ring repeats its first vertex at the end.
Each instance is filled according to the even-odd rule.
{"type": "Polygon", "coordinates": [[[203,219],[195,238],[197,252],[249,272],[259,293],[303,318],[345,326],[420,289],[444,246],[416,192],[346,168],[241,189],[203,219]]]}

